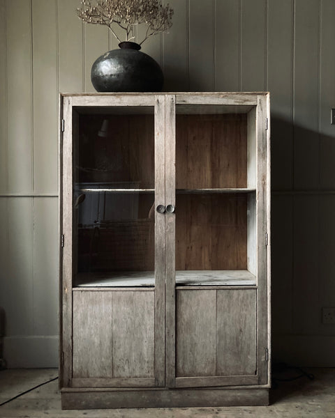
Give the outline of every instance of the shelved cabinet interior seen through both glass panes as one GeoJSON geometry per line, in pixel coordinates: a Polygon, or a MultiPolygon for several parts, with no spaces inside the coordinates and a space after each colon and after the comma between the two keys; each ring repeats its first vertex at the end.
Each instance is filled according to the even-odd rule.
{"type": "MultiPolygon", "coordinates": [[[[154,109],[77,109],[74,286],[154,286],[154,109]]],[[[176,107],[176,284],[256,284],[255,107],[176,107]],[[233,112],[233,113],[229,113],[233,112]]]]}

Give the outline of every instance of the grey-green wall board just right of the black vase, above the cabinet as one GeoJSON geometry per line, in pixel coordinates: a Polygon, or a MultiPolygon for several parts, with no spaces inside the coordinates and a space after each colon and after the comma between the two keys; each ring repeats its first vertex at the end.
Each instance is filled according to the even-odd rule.
{"type": "Polygon", "coordinates": [[[188,0],[169,0],[173,26],[163,33],[164,91],[188,91],[188,0]]]}

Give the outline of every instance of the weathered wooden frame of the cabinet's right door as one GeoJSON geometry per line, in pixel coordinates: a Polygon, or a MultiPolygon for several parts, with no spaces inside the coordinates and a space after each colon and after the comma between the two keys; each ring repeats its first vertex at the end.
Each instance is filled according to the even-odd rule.
{"type": "MultiPolygon", "coordinates": [[[[270,385],[270,148],[269,93],[176,93],[165,95],[166,204],[175,201],[175,148],[177,105],[226,105],[253,108],[257,153],[257,286],[256,291],[256,364],[255,375],[176,378],[176,286],[175,215],[165,214],[165,310],[166,310],[166,385],[168,387],[270,385]],[[261,163],[260,163],[261,162],[261,163]],[[267,234],[267,235],[266,235],[267,234]],[[266,238],[267,237],[267,238],[266,238]]],[[[176,208],[178,211],[178,208],[176,208]]]]}

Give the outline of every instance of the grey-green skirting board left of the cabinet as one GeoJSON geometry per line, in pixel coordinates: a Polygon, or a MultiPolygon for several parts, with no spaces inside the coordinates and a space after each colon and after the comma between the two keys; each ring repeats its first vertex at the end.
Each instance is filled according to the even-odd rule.
{"type": "Polygon", "coordinates": [[[3,339],[3,358],[10,369],[54,368],[59,363],[59,337],[7,336],[3,339]]]}

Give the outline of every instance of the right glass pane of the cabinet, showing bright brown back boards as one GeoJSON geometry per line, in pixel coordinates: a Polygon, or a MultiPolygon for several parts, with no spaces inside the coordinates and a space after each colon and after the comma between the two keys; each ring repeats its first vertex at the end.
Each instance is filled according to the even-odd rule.
{"type": "Polygon", "coordinates": [[[252,112],[250,106],[176,108],[177,285],[255,284],[252,112]]]}

